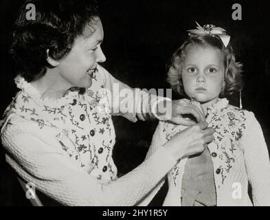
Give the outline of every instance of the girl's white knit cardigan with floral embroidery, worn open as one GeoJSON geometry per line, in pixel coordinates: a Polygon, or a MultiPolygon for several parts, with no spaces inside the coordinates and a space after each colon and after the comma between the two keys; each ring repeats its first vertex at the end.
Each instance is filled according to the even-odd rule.
{"type": "MultiPolygon", "coordinates": [[[[252,187],[254,206],[270,206],[270,162],[267,145],[260,124],[249,111],[218,100],[207,110],[207,122],[214,132],[214,142],[208,144],[214,165],[217,206],[252,206],[247,193],[248,181],[252,187]]],[[[168,122],[159,122],[148,151],[149,157],[159,144],[164,144],[175,133],[185,129],[168,122]]],[[[168,177],[168,194],[164,206],[181,206],[181,182],[185,162],[181,160],[168,177]]],[[[163,179],[142,199],[146,206],[155,196],[163,179]]]]}

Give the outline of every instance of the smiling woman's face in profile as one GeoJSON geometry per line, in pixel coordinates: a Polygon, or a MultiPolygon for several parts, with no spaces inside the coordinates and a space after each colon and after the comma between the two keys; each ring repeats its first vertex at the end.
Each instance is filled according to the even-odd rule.
{"type": "Polygon", "coordinates": [[[76,38],[71,52],[56,67],[62,87],[91,87],[91,74],[98,63],[106,60],[100,47],[102,41],[102,23],[97,18],[87,24],[83,35],[76,38]]]}

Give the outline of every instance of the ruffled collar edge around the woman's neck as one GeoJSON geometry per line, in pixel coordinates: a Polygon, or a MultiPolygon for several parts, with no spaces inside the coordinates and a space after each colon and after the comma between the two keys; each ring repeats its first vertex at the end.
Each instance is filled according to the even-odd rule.
{"type": "Polygon", "coordinates": [[[31,83],[28,83],[22,76],[16,76],[14,82],[18,89],[21,89],[24,94],[29,95],[38,104],[52,107],[61,107],[68,104],[69,102],[72,102],[74,98],[78,98],[78,91],[69,91],[65,96],[56,100],[50,98],[42,98],[41,94],[39,94],[36,88],[34,88],[31,83]]]}

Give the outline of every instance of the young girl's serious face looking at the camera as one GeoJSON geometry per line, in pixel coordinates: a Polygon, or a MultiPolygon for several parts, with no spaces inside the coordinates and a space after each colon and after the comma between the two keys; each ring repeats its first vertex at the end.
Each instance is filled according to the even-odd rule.
{"type": "Polygon", "coordinates": [[[188,47],[181,71],[185,94],[201,104],[216,103],[224,82],[223,59],[221,51],[214,47],[188,47]]]}

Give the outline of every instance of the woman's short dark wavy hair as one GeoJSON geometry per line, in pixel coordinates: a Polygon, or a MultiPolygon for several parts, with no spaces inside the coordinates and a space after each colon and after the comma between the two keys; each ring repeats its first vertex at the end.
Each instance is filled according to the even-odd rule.
{"type": "Polygon", "coordinates": [[[28,82],[43,76],[46,67],[52,67],[47,63],[47,56],[56,61],[64,58],[87,23],[97,17],[95,0],[25,1],[14,24],[10,46],[19,74],[28,82]],[[34,20],[27,20],[28,3],[35,6],[34,20]]]}

